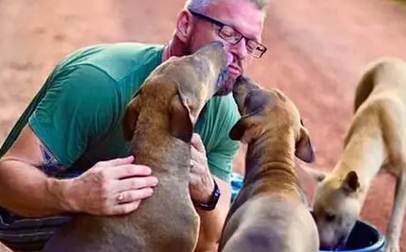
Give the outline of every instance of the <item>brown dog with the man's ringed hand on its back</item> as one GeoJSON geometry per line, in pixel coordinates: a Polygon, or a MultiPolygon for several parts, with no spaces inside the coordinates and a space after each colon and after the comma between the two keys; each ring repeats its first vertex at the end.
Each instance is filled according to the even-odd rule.
{"type": "Polygon", "coordinates": [[[159,180],[154,194],[126,216],[80,215],[47,243],[49,252],[192,252],[199,216],[190,198],[191,138],[206,102],[221,88],[228,54],[214,42],[154,70],[129,103],[124,133],[136,163],[159,180]]]}

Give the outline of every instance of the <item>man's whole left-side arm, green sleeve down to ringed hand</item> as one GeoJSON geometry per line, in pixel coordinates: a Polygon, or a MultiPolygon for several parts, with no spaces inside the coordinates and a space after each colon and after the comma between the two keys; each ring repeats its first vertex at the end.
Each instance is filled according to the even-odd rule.
{"type": "Polygon", "coordinates": [[[28,124],[1,159],[0,205],[25,216],[135,210],[157,181],[148,176],[150,168],[133,165],[133,157],[96,163],[74,179],[50,178],[37,169],[69,168],[121,114],[114,80],[98,68],[83,65],[49,81],[28,124]]]}

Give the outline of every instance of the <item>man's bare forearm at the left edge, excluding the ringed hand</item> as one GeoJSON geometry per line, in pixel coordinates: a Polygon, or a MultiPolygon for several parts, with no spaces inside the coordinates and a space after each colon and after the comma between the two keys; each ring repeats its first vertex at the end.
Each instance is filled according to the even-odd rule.
{"type": "Polygon", "coordinates": [[[69,210],[64,198],[68,180],[47,177],[22,161],[0,161],[0,205],[16,214],[37,217],[69,210]]]}

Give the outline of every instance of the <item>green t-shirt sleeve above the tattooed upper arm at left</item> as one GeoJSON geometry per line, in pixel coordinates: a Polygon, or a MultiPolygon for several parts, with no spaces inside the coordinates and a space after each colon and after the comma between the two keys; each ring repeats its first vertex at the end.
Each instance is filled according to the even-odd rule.
{"type": "Polygon", "coordinates": [[[103,71],[80,65],[56,76],[29,124],[64,166],[70,167],[95,137],[119,120],[115,81],[103,71]]]}

